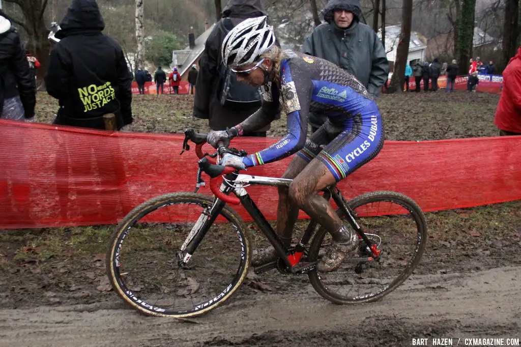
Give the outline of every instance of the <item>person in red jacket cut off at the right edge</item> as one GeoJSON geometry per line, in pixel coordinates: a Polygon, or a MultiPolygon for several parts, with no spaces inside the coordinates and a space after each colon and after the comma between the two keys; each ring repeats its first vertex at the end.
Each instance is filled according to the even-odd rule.
{"type": "Polygon", "coordinates": [[[503,71],[503,92],[495,110],[500,135],[521,135],[521,47],[503,71]]]}

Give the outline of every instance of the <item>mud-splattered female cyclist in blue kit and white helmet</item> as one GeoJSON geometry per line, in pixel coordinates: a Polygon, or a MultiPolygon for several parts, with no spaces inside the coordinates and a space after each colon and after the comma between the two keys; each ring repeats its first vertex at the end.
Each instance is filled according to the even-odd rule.
{"type": "MultiPolygon", "coordinates": [[[[227,131],[212,131],[208,143],[229,143],[233,137],[256,131],[274,120],[279,104],[287,115],[288,134],[276,144],[246,157],[225,154],[224,166],[244,169],[297,153],[283,178],[293,179],[279,188],[277,233],[289,246],[299,208],[326,228],[333,238],[317,270],[333,271],[358,244],[356,233],[343,225],[319,191],[344,179],[373,159],[383,145],[383,126],[373,96],[353,75],[327,60],[284,51],[275,44],[267,17],[246,19],[222,43],[222,61],[243,83],[262,86],[262,107],[227,131]],[[328,120],[306,140],[309,112],[327,114],[328,120]]],[[[275,250],[259,250],[252,264],[275,261],[275,250]]]]}

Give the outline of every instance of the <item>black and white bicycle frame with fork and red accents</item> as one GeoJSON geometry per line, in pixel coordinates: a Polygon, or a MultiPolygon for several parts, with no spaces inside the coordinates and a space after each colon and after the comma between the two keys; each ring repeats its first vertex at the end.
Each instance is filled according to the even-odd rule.
{"type": "MultiPolygon", "coordinates": [[[[251,175],[239,175],[237,172],[228,173],[225,177],[225,181],[220,186],[220,192],[224,194],[229,194],[233,192],[239,199],[240,203],[244,206],[246,212],[250,214],[250,216],[253,218],[259,229],[263,232],[263,234],[266,236],[268,241],[271,243],[271,245],[275,248],[277,253],[279,254],[280,258],[282,259],[284,265],[286,265],[287,269],[291,269],[291,271],[294,273],[298,271],[299,269],[295,267],[296,264],[300,262],[300,259],[302,255],[304,254],[305,245],[311,240],[313,233],[315,231],[317,222],[312,220],[308,227],[306,228],[304,235],[300,242],[296,245],[294,252],[291,254],[288,254],[288,250],[284,248],[282,245],[282,242],[280,241],[279,237],[277,236],[277,233],[273,228],[269,225],[269,222],[264,217],[261,210],[258,209],[255,202],[251,199],[250,195],[247,193],[245,187],[249,185],[268,185],[270,187],[289,187],[290,183],[292,182],[291,179],[284,179],[284,178],[273,178],[273,177],[263,177],[263,176],[251,176],[251,175]]],[[[342,198],[342,195],[340,191],[336,188],[335,185],[332,185],[330,187],[327,187],[323,190],[324,192],[324,198],[326,200],[330,200],[331,198],[333,201],[341,208],[342,212],[345,214],[351,225],[351,227],[356,231],[358,234],[358,238],[362,239],[366,242],[366,245],[371,245],[369,239],[363,232],[362,228],[359,227],[357,224],[354,213],[344,203],[344,200],[342,198]]],[[[221,194],[219,194],[221,195],[221,194]]],[[[184,251],[187,252],[183,259],[183,263],[186,264],[190,257],[193,255],[193,252],[197,249],[197,246],[199,243],[203,240],[206,232],[208,232],[209,227],[213,224],[219,213],[221,212],[221,209],[225,206],[226,202],[221,200],[219,197],[215,197],[213,205],[205,210],[203,212],[203,215],[206,217],[203,217],[203,215],[200,217],[200,220],[202,218],[205,218],[203,224],[196,223],[194,228],[189,234],[189,237],[187,239],[188,246],[184,251]],[[199,230],[197,230],[199,229],[199,230]],[[193,240],[190,240],[190,238],[193,238],[193,240]]],[[[376,246],[366,246],[367,250],[373,254],[375,258],[378,257],[380,251],[377,250],[376,246]]],[[[181,260],[181,259],[179,259],[181,260]]],[[[308,264],[309,265],[309,264],[308,264]]]]}

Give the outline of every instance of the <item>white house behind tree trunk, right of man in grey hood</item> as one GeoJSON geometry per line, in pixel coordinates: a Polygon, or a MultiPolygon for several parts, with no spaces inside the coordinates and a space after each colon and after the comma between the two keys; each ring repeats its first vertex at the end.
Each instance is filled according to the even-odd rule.
{"type": "MultiPolygon", "coordinates": [[[[400,25],[386,27],[386,41],[385,49],[387,60],[389,60],[389,71],[392,72],[394,61],[396,60],[396,49],[400,41],[400,32],[402,28],[400,25]]],[[[413,66],[416,61],[424,61],[427,52],[427,44],[419,38],[419,34],[411,32],[411,40],[409,42],[409,55],[407,56],[408,63],[413,66]]],[[[382,38],[381,30],[378,30],[378,37],[382,38]]]]}

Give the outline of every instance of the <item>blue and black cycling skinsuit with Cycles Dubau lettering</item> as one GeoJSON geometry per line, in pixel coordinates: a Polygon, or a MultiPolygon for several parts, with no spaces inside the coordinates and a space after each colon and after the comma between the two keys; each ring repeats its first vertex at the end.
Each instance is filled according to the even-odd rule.
{"type": "Polygon", "coordinates": [[[287,114],[287,135],[243,159],[246,167],[274,162],[299,150],[299,156],[322,160],[340,180],[380,150],[383,128],[373,96],[356,78],[327,60],[291,51],[281,63],[280,89],[263,86],[266,114],[282,104],[287,114]],[[328,121],[306,142],[310,112],[328,121]],[[322,148],[320,145],[329,144],[322,148]],[[328,150],[329,148],[329,150],[328,150]],[[324,153],[321,153],[324,152],[324,153]]]}

